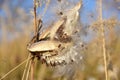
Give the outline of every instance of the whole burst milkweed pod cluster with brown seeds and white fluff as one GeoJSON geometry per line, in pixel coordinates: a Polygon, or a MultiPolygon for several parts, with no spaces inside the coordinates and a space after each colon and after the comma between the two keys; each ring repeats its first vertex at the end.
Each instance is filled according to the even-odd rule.
{"type": "Polygon", "coordinates": [[[60,20],[39,36],[39,42],[29,45],[27,49],[32,53],[41,54],[41,60],[51,66],[76,61],[78,53],[74,51],[76,42],[73,33],[76,30],[80,7],[81,3],[68,10],[60,20]],[[56,55],[52,55],[53,53],[56,55]]]}

